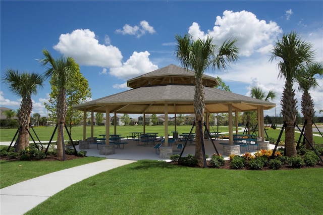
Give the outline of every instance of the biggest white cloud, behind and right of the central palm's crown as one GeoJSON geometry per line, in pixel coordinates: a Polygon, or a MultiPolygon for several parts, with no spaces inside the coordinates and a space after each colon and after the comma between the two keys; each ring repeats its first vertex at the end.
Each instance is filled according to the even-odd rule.
{"type": "Polygon", "coordinates": [[[204,33],[198,23],[189,27],[189,34],[194,38],[206,35],[213,37],[216,44],[221,45],[226,39],[237,38],[240,56],[250,56],[254,52],[267,53],[272,47],[282,29],[276,22],[266,22],[247,11],[225,11],[223,16],[217,16],[212,30],[204,33]]]}

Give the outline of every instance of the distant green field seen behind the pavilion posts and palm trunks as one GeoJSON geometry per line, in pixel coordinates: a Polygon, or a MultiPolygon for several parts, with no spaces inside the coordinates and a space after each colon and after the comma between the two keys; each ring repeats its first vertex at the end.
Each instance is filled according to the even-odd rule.
{"type": "MultiPolygon", "coordinates": [[[[192,126],[177,126],[177,131],[179,134],[181,133],[189,133],[192,126]]],[[[40,141],[48,141],[54,131],[55,127],[34,127],[35,133],[37,134],[40,141]]],[[[86,137],[90,137],[90,127],[86,127],[86,137]]],[[[243,129],[243,128],[241,128],[243,129]]],[[[94,127],[94,137],[100,137],[100,134],[105,133],[104,126],[95,126],[94,127]]],[[[174,126],[169,126],[169,134],[172,136],[174,131],[174,126]]],[[[130,135],[129,132],[142,132],[143,126],[117,126],[117,134],[123,134],[123,136],[130,135]]],[[[216,132],[217,127],[213,126],[210,127],[210,132],[216,132]]],[[[220,126],[219,132],[228,132],[228,127],[220,126]]],[[[0,141],[12,141],[17,129],[0,129],[0,141]]],[[[266,130],[268,137],[274,138],[275,140],[278,139],[280,130],[266,130]]],[[[114,127],[110,127],[110,133],[114,133],[114,127]]],[[[146,126],[146,133],[158,133],[159,136],[165,136],[164,126],[146,126]]],[[[195,128],[193,129],[193,133],[195,133],[195,128]]],[[[241,133],[241,132],[240,132],[241,133]]],[[[315,133],[315,132],[314,132],[315,133]]],[[[31,130],[32,137],[37,142],[37,137],[34,132],[31,130]]],[[[316,132],[316,134],[318,134],[316,132]]],[[[298,141],[300,134],[295,132],[295,140],[298,141]]],[[[266,135],[265,135],[266,137],[266,135]]],[[[66,140],[68,140],[68,136],[65,135],[66,140]]],[[[83,127],[73,127],[72,129],[72,139],[73,140],[80,140],[83,139],[83,127]]],[[[314,142],[316,144],[323,144],[323,138],[319,136],[313,137],[314,142]]],[[[30,138],[30,140],[32,140],[30,138]]],[[[53,140],[57,140],[57,133],[53,136],[53,140]]],[[[285,132],[281,137],[281,140],[285,140],[285,132]]]]}

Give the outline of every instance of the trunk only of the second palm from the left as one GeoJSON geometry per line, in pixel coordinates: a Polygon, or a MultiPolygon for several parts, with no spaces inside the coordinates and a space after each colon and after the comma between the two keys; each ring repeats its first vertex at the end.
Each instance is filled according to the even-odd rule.
{"type": "Polygon", "coordinates": [[[57,101],[57,123],[58,123],[58,132],[57,132],[57,156],[63,156],[63,140],[64,137],[64,126],[65,126],[65,116],[66,116],[66,96],[65,88],[61,88],[59,91],[59,99],[57,101]],[[61,126],[62,128],[61,129],[61,126]],[[62,134],[63,132],[63,134],[62,134]]]}

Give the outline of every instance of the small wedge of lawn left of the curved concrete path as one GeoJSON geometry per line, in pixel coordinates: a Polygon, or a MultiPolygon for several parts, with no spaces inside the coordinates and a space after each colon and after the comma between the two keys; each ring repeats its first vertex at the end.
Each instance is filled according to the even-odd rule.
{"type": "Polygon", "coordinates": [[[79,159],[62,161],[13,161],[13,160],[0,160],[0,174],[1,182],[0,188],[8,187],[10,185],[26,181],[28,179],[36,178],[48,173],[97,162],[98,160],[105,159],[104,157],[82,157],[79,159]]]}

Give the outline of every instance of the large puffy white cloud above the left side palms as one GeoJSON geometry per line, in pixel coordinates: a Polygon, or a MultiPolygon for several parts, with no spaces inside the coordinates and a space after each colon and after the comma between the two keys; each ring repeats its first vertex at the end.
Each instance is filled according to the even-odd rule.
{"type": "MultiPolygon", "coordinates": [[[[105,42],[110,42],[105,37],[105,42]]],[[[53,48],[64,56],[73,57],[80,65],[98,67],[119,67],[122,55],[119,48],[99,44],[93,31],[77,29],[72,33],[61,34],[59,43],[53,48]]]]}

